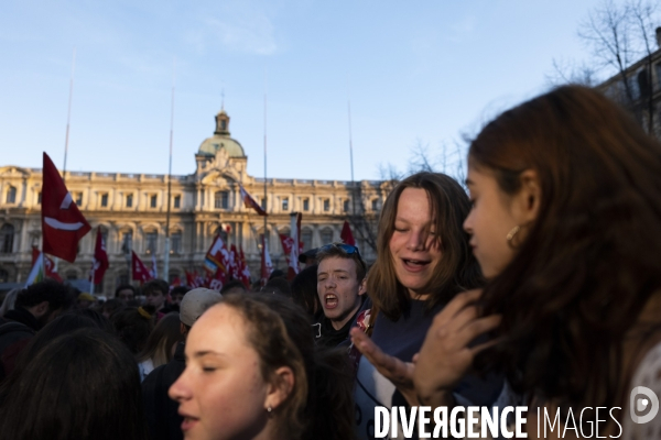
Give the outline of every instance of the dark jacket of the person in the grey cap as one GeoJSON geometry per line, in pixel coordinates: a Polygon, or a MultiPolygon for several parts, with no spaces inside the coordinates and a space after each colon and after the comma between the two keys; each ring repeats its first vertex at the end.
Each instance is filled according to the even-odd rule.
{"type": "Polygon", "coordinates": [[[174,358],[152,371],[142,382],[142,398],[149,433],[153,440],[183,439],[178,403],[167,396],[167,391],[186,369],[184,342],[176,345],[174,358]]]}

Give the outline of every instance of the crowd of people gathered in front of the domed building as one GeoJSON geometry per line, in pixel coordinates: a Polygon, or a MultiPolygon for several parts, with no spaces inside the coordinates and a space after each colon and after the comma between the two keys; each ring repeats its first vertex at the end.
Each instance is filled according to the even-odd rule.
{"type": "Polygon", "coordinates": [[[371,266],[332,243],[258,289],[8,295],[0,438],[370,439],[376,407],[421,405],[524,405],[529,438],[533,408],[619,408],[598,437],[661,438],[628,417],[635,387],[661,396],[661,144],[565,86],[467,163],[394,187],[371,266]]]}

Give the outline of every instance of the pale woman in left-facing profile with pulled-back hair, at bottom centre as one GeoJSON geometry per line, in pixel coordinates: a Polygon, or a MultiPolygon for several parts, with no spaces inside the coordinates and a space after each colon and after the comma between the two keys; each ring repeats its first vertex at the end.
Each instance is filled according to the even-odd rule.
{"type": "Polygon", "coordinates": [[[351,440],[345,353],[315,348],[310,318],[272,294],[227,295],[186,339],[170,388],[189,440],[351,440]]]}

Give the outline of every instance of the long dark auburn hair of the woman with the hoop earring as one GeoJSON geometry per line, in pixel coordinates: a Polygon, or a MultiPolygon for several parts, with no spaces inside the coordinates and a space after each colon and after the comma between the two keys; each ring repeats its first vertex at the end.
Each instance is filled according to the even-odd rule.
{"type": "Polygon", "coordinates": [[[613,406],[625,334],[661,286],[661,145],[599,92],[565,86],[496,118],[468,163],[506,194],[525,169],[541,187],[537,220],[485,289],[505,341],[481,361],[542,399],[613,406]]]}

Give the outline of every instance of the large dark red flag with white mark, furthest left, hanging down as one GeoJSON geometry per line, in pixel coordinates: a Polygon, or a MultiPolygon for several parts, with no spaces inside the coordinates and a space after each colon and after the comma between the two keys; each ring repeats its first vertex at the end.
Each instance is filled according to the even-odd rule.
{"type": "Polygon", "coordinates": [[[73,263],[78,252],[78,241],[91,227],[78,210],[72,195],[44,153],[42,180],[42,233],[44,253],[73,263]]]}

